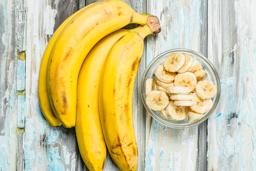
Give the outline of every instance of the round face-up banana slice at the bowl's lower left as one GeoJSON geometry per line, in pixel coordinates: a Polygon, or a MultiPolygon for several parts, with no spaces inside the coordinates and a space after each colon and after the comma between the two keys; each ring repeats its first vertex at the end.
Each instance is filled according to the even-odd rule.
{"type": "Polygon", "coordinates": [[[169,98],[163,91],[150,91],[146,97],[146,104],[154,111],[161,111],[169,103],[169,98]]]}

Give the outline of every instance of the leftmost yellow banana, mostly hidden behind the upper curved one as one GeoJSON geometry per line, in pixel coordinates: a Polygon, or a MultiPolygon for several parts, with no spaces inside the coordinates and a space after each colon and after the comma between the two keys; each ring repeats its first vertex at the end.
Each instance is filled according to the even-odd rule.
{"type": "MultiPolygon", "coordinates": [[[[93,4],[96,4],[96,3],[93,3],[93,4]]],[[[61,123],[56,118],[54,112],[52,111],[52,107],[51,107],[49,99],[48,99],[48,93],[47,93],[47,87],[46,87],[46,69],[47,69],[49,55],[50,55],[50,52],[52,50],[55,40],[60,35],[60,32],[63,30],[63,28],[68,24],[68,22],[72,18],[74,18],[79,12],[83,11],[84,9],[90,7],[93,4],[87,5],[86,7],[75,12],[73,15],[69,16],[65,21],[63,21],[63,23],[59,26],[59,28],[52,35],[52,38],[50,39],[50,41],[45,49],[44,56],[41,61],[40,71],[39,71],[38,96],[39,96],[41,111],[42,111],[43,115],[45,116],[46,120],[49,122],[50,126],[52,126],[52,127],[61,126],[61,123]]]]}

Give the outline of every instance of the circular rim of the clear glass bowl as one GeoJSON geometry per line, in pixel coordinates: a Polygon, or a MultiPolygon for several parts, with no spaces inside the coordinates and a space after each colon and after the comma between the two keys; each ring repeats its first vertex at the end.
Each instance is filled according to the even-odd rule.
{"type": "Polygon", "coordinates": [[[196,126],[196,125],[199,125],[200,123],[203,123],[205,120],[207,120],[211,114],[214,112],[215,108],[217,107],[218,105],[218,102],[219,102],[219,98],[220,98],[220,95],[221,95],[221,83],[220,83],[220,79],[219,79],[219,75],[218,75],[218,72],[216,70],[216,68],[214,67],[214,65],[211,63],[211,61],[203,56],[202,54],[200,54],[199,52],[196,52],[196,51],[193,51],[191,49],[183,49],[183,48],[176,48],[176,49],[170,49],[170,50],[167,50],[165,52],[162,52],[160,53],[159,55],[157,55],[156,57],[154,57],[153,60],[150,61],[150,63],[146,66],[144,72],[143,72],[143,75],[142,75],[142,80],[141,80],[141,83],[140,83],[140,95],[141,95],[141,98],[142,98],[142,102],[143,102],[143,106],[144,108],[146,108],[146,111],[150,114],[150,116],[152,118],[154,118],[157,122],[161,123],[162,125],[166,126],[166,127],[170,127],[170,128],[177,128],[177,129],[183,129],[183,128],[190,128],[190,127],[193,127],[193,126],[196,126]],[[166,54],[169,54],[169,53],[174,53],[174,52],[178,52],[178,51],[182,51],[182,52],[189,52],[189,53],[193,53],[197,56],[199,56],[200,58],[202,58],[208,65],[210,65],[215,77],[216,77],[216,80],[217,80],[217,96],[216,96],[216,100],[215,100],[215,103],[213,104],[213,106],[211,107],[211,110],[208,111],[208,114],[203,116],[201,119],[195,121],[195,122],[192,122],[191,124],[188,124],[188,125],[184,125],[184,126],[175,126],[175,125],[167,125],[165,124],[164,122],[161,122],[161,120],[159,120],[155,114],[152,114],[153,111],[148,108],[147,104],[146,104],[146,97],[144,95],[144,92],[143,92],[143,86],[144,86],[144,83],[143,83],[143,80],[146,79],[146,73],[148,72],[148,70],[152,67],[152,65],[154,65],[154,63],[162,56],[166,55],[166,54]],[[145,98],[144,98],[145,97],[145,98]]]}

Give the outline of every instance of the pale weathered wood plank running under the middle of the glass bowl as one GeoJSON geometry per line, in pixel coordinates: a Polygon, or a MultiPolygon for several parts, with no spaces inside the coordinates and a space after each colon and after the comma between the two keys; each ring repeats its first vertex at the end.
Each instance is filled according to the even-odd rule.
{"type": "MultiPolygon", "coordinates": [[[[204,51],[206,5],[200,0],[147,1],[147,12],[159,17],[162,31],[148,36],[147,63],[159,53],[173,48],[204,51]],[[203,48],[203,49],[202,49],[203,48]]],[[[146,144],[145,170],[197,170],[198,127],[172,129],[152,120],[146,144]]],[[[148,130],[148,129],[147,129],[148,130]]],[[[146,134],[148,135],[148,133],[146,134]]]]}

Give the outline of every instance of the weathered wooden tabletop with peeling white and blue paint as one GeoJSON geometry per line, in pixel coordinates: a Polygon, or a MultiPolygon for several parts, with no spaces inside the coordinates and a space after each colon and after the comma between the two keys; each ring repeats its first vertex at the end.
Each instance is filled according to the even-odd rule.
{"type": "MultiPolygon", "coordinates": [[[[38,73],[57,27],[94,0],[0,0],[0,171],[86,170],[75,129],[50,127],[38,102],[38,73]],[[26,59],[22,55],[25,53],[26,59]]],[[[256,170],[256,1],[125,0],[159,17],[145,40],[133,98],[138,171],[256,170]],[[146,113],[138,86],[146,65],[173,48],[207,56],[221,98],[199,126],[173,129],[146,113]]],[[[107,156],[105,170],[118,168],[107,156]]]]}

